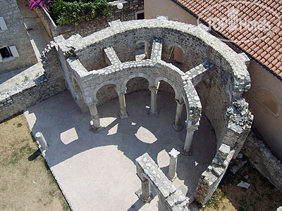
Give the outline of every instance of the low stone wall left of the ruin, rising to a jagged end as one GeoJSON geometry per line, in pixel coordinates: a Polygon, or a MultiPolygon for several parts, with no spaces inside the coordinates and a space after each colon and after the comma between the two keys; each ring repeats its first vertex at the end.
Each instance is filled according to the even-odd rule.
{"type": "Polygon", "coordinates": [[[66,89],[55,48],[50,44],[44,51],[42,75],[1,93],[0,122],[66,89]]]}

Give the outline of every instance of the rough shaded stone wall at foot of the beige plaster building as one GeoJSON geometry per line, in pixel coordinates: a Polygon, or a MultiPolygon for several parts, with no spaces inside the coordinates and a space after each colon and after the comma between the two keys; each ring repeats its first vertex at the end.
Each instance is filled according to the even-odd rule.
{"type": "Polygon", "coordinates": [[[247,136],[242,152],[249,158],[251,164],[264,177],[271,181],[282,192],[282,164],[267,148],[264,143],[257,139],[254,132],[247,136]]]}

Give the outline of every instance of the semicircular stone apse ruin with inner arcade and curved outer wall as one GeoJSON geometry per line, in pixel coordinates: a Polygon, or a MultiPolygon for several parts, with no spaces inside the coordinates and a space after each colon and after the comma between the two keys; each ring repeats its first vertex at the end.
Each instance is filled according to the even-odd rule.
{"type": "Polygon", "coordinates": [[[169,21],[165,17],[123,23],[117,20],[109,25],[83,38],[79,34],[69,39],[55,38],[53,50],[58,52],[68,90],[82,112],[90,110],[92,129],[99,132],[102,127],[98,105],[118,97],[120,117],[130,115],[125,103],[130,79],[144,81],[130,91],[151,91],[149,113],[153,117],[158,115],[159,84],[167,82],[177,103],[173,123],[176,132],[182,129],[183,106],[187,111],[184,153],[191,153],[192,137],[202,113],[216,134],[216,155],[202,173],[194,193],[196,200],[206,203],[250,131],[252,115],[243,98],[243,92],[250,89],[249,59],[209,34],[203,25],[169,21]],[[140,43],[145,44],[145,59],[135,60],[135,46],[140,43]],[[173,46],[183,51],[180,68],[171,63],[173,46]],[[112,87],[116,92],[111,91],[112,87]]]}

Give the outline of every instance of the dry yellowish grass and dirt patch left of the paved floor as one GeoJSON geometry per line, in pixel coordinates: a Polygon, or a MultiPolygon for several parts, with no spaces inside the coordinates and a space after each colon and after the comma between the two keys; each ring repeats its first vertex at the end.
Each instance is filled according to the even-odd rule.
{"type": "Polygon", "coordinates": [[[70,210],[25,117],[1,123],[0,131],[0,210],[70,210]]]}

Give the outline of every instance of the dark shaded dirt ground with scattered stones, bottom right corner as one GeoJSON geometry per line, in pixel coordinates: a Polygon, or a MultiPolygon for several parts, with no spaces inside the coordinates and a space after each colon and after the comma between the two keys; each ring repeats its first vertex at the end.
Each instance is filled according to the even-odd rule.
{"type": "Polygon", "coordinates": [[[282,193],[247,162],[235,175],[228,168],[214,196],[200,210],[275,211],[281,205],[282,193]],[[240,181],[249,183],[250,188],[238,187],[240,181]]]}

